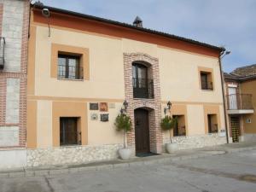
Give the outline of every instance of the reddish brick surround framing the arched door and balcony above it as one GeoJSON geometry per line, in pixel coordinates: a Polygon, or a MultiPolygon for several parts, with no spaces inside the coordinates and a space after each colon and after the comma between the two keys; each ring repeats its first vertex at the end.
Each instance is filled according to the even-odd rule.
{"type": "Polygon", "coordinates": [[[134,110],[137,108],[145,108],[148,110],[150,151],[160,154],[162,151],[163,134],[160,129],[161,102],[159,60],[143,53],[124,53],[124,70],[125,99],[129,103],[127,113],[131,117],[132,122],[131,131],[127,133],[128,146],[135,151],[134,110]],[[152,71],[152,78],[154,79],[154,99],[133,98],[132,62],[134,61],[146,63],[152,71]]]}

